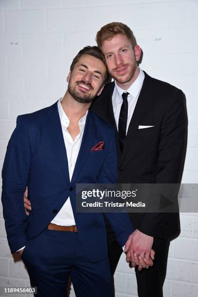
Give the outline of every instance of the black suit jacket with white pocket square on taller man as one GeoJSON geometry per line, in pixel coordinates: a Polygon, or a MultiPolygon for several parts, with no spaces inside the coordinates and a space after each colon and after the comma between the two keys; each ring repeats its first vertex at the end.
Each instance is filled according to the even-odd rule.
{"type": "MultiPolygon", "coordinates": [[[[144,74],[123,153],[113,115],[114,82],[105,86],[91,108],[115,128],[118,183],[178,183],[185,155],[185,96],[171,84],[144,74]],[[138,129],[139,125],[154,127],[138,129]]],[[[130,216],[134,228],[156,238],[168,238],[180,232],[178,213],[132,213],[130,216]]]]}

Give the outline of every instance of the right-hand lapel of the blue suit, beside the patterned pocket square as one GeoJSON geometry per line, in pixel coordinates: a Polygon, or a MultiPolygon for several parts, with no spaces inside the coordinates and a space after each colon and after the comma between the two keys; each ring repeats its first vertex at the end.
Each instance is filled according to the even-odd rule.
{"type": "Polygon", "coordinates": [[[81,172],[83,166],[85,165],[85,162],[90,154],[90,149],[93,147],[93,140],[95,137],[96,132],[96,126],[93,119],[93,116],[91,115],[91,111],[89,111],[85,123],[85,129],[83,133],[83,139],[81,142],[80,150],[78,153],[78,157],[76,160],[75,168],[72,174],[72,181],[71,184],[73,184],[79,173],[81,172]]]}

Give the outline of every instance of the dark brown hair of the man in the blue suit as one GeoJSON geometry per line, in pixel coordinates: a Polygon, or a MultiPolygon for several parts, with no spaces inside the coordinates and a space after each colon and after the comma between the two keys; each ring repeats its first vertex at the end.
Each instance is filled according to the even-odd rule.
{"type": "Polygon", "coordinates": [[[92,57],[95,57],[95,58],[99,59],[100,61],[102,61],[105,64],[105,66],[106,66],[106,74],[105,74],[104,83],[108,82],[108,80],[109,80],[109,73],[108,73],[107,62],[106,62],[106,59],[105,59],[105,56],[104,56],[102,50],[99,49],[96,46],[93,46],[93,47],[87,46],[87,47],[81,49],[77,53],[77,55],[74,57],[74,59],[72,61],[72,64],[70,66],[70,70],[71,71],[73,70],[74,65],[78,62],[78,60],[80,59],[80,57],[82,55],[90,55],[92,57]]]}

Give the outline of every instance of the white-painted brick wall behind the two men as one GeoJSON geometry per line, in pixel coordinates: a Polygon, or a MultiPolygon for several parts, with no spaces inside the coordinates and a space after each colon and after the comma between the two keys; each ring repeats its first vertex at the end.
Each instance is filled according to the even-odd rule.
{"type": "MultiPolygon", "coordinates": [[[[95,45],[102,25],[122,21],[144,51],[141,67],[186,95],[189,134],[182,181],[198,182],[197,13],[197,0],[0,0],[0,169],[17,115],[61,97],[74,55],[95,45]]],[[[0,286],[28,284],[24,264],[10,253],[0,205],[0,286]]],[[[116,297],[137,297],[134,269],[124,255],[115,288],[116,297]]],[[[181,214],[163,291],[164,297],[198,295],[197,213],[181,214]]]]}

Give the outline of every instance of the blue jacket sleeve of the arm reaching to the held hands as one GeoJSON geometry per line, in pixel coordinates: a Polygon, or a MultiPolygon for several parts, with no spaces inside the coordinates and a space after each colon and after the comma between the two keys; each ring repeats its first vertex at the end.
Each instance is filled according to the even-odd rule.
{"type": "MultiPolygon", "coordinates": [[[[109,135],[109,147],[106,160],[98,177],[98,183],[116,183],[118,176],[117,149],[114,129],[109,135]]],[[[116,239],[123,247],[128,236],[134,231],[133,225],[127,213],[105,213],[108,222],[115,232],[116,239]]]]}

